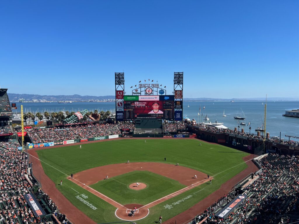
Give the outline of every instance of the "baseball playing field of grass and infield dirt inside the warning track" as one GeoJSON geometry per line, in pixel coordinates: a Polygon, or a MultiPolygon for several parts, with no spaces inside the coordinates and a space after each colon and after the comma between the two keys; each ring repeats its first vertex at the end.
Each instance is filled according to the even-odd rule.
{"type": "Polygon", "coordinates": [[[247,167],[242,158],[249,155],[198,139],[117,139],[79,146],[46,148],[37,154],[55,187],[96,223],[148,224],[160,215],[164,222],[199,201],[205,203],[247,167]],[[129,187],[136,182],[145,188],[129,187]],[[140,209],[129,217],[133,205],[140,209]]]}

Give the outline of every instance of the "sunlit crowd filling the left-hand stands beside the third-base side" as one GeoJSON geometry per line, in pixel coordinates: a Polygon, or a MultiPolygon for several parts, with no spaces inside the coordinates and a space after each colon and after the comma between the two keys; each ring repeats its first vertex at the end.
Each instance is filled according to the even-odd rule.
{"type": "Polygon", "coordinates": [[[53,223],[35,217],[25,199],[32,188],[25,177],[27,155],[19,151],[18,146],[16,139],[0,141],[0,223],[53,223]]]}

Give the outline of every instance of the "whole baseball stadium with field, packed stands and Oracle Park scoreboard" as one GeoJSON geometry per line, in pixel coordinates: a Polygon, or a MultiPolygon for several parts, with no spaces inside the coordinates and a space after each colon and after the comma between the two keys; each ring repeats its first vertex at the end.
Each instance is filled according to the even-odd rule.
{"type": "Polygon", "coordinates": [[[115,115],[45,111],[31,126],[0,89],[0,223],[297,222],[298,143],[184,118],[183,72],[171,94],[124,80],[115,115]]]}

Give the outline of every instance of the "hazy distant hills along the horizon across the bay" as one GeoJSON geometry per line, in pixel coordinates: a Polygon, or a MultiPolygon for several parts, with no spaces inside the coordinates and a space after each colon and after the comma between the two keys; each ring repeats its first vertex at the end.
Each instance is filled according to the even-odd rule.
{"type": "MultiPolygon", "coordinates": [[[[108,100],[115,99],[115,96],[80,96],[80,95],[36,95],[36,94],[17,94],[17,93],[7,93],[10,101],[17,102],[20,99],[25,99],[26,101],[33,100],[47,100],[47,101],[90,101],[90,100],[108,100]]],[[[265,101],[265,97],[259,98],[232,98],[232,99],[222,99],[222,98],[184,98],[184,101],[265,101]]],[[[291,97],[269,97],[269,101],[297,101],[299,98],[291,97]]]]}

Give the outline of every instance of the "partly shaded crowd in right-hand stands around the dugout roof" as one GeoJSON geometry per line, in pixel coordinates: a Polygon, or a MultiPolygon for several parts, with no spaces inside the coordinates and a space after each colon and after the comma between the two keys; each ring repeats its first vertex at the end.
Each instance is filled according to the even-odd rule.
{"type": "MultiPolygon", "coordinates": [[[[259,161],[262,170],[245,187],[224,195],[196,216],[193,223],[278,224],[299,221],[299,156],[269,154],[259,161]],[[218,211],[242,191],[247,198],[225,218],[218,211]]],[[[254,175],[252,174],[252,177],[254,175]]]]}

